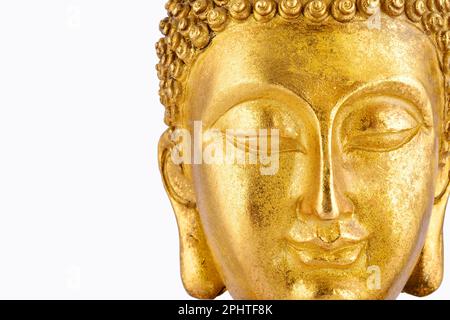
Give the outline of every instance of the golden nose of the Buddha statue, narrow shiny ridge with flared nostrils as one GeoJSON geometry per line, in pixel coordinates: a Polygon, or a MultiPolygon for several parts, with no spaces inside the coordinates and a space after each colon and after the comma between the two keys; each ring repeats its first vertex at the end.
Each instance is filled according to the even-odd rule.
{"type": "Polygon", "coordinates": [[[324,149],[319,165],[316,166],[317,170],[313,170],[310,180],[313,187],[308,188],[299,199],[298,211],[299,214],[314,215],[321,220],[334,220],[342,215],[352,215],[354,206],[344,194],[345,186],[340,168],[335,168],[337,166],[334,166],[327,146],[324,149]]]}

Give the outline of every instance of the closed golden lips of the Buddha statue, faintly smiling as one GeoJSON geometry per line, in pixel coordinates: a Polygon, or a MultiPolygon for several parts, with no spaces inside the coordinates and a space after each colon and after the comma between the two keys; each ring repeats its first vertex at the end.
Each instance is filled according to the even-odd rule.
{"type": "Polygon", "coordinates": [[[338,268],[355,263],[365,248],[366,241],[350,242],[340,239],[328,244],[320,240],[309,242],[288,240],[288,245],[305,265],[338,268]]]}

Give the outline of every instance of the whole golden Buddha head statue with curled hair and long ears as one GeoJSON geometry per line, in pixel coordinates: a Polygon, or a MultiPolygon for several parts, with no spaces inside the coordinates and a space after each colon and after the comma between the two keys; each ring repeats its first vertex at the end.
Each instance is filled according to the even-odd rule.
{"type": "Polygon", "coordinates": [[[159,163],[188,293],[435,291],[450,1],[170,0],[166,9],[159,163]]]}

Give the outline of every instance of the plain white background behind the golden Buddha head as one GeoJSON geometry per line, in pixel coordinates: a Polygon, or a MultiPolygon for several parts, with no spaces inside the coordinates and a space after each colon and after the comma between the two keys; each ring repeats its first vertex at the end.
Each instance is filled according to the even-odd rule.
{"type": "MultiPolygon", "coordinates": [[[[189,298],[157,165],[164,3],[0,0],[0,298],[189,298]]],[[[447,270],[428,298],[449,293],[447,270]]]]}

